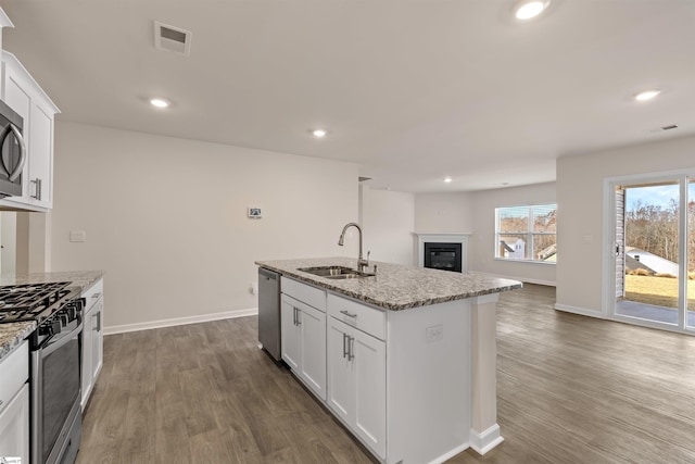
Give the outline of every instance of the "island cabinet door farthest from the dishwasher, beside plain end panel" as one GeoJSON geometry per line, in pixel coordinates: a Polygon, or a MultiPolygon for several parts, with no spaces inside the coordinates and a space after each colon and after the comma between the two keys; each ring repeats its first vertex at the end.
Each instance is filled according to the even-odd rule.
{"type": "Polygon", "coordinates": [[[387,356],[386,343],[355,330],[354,427],[380,457],[386,457],[387,435],[387,356]]]}

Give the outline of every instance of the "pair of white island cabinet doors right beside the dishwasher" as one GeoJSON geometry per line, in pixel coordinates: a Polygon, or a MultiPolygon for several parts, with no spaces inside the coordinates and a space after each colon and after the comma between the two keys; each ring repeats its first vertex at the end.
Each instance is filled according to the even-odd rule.
{"type": "Polygon", "coordinates": [[[282,360],[326,400],[326,313],[282,294],[282,360]]]}

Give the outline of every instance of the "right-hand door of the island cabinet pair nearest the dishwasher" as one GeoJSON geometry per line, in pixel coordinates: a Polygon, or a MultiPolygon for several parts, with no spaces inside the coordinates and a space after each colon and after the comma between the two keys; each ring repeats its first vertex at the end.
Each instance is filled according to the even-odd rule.
{"type": "Polygon", "coordinates": [[[302,356],[301,377],[326,400],[326,313],[301,305],[302,356]]]}

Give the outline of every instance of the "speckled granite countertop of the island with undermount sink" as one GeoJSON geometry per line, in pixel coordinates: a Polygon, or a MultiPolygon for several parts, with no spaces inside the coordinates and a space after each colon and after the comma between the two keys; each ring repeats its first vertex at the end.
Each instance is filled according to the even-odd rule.
{"type": "Polygon", "coordinates": [[[298,271],[299,267],[329,265],[356,268],[357,260],[349,258],[257,261],[256,264],[390,311],[515,290],[522,286],[520,281],[503,279],[490,274],[453,273],[381,262],[370,262],[370,267],[367,267],[367,272],[371,272],[376,264],[378,268],[376,276],[356,279],[337,280],[298,271]]]}

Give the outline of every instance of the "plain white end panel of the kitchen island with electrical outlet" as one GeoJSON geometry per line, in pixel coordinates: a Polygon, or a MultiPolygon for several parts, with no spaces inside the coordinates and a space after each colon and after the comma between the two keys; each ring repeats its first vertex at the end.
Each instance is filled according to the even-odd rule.
{"type": "Polygon", "coordinates": [[[469,446],[470,300],[387,314],[388,463],[444,462],[469,446]]]}

